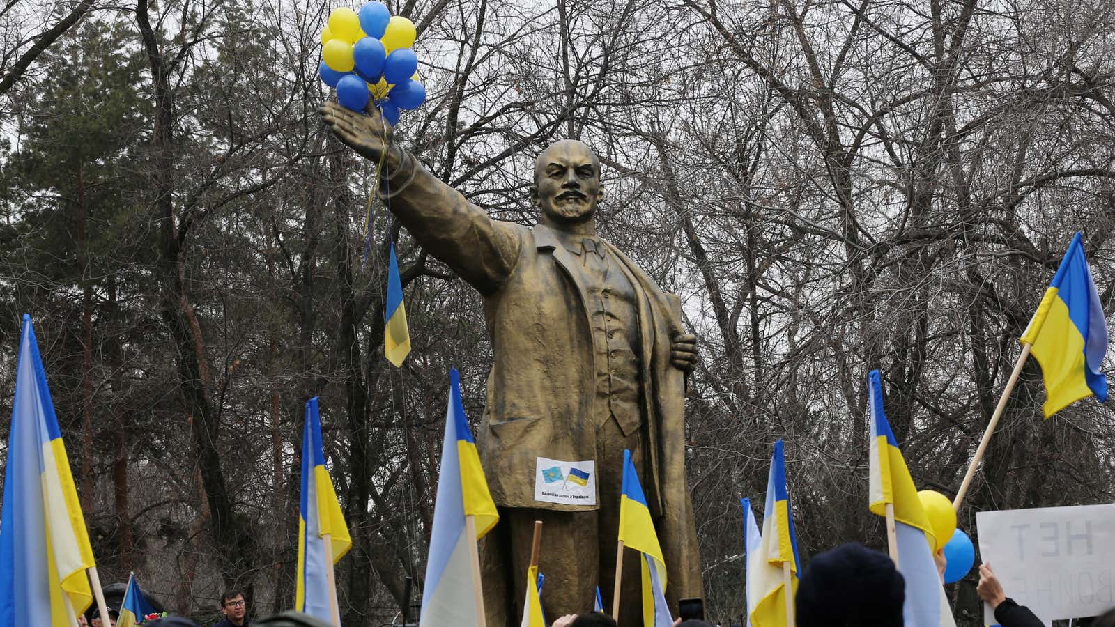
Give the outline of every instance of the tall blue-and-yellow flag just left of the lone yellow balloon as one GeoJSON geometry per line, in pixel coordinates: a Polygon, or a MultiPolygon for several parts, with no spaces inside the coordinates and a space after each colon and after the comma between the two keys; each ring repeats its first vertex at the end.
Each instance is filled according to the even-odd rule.
{"type": "Polygon", "coordinates": [[[885,517],[886,504],[894,507],[898,568],[905,579],[904,624],[906,627],[954,627],[952,610],[933,561],[933,528],[883,413],[883,386],[879,370],[871,370],[867,378],[871,412],[870,509],[871,513],[885,517]]]}

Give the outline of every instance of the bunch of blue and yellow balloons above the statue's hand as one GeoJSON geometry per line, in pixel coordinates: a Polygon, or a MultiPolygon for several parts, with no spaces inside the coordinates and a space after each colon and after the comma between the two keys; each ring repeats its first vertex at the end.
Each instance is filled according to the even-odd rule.
{"type": "Polygon", "coordinates": [[[392,126],[399,109],[416,109],[426,102],[417,80],[418,56],[410,49],[417,31],[407,18],[391,16],[381,2],[365,3],[357,13],[339,8],[329,13],[321,30],[321,80],[337,89],[337,100],[363,112],[368,100],[392,126]]]}

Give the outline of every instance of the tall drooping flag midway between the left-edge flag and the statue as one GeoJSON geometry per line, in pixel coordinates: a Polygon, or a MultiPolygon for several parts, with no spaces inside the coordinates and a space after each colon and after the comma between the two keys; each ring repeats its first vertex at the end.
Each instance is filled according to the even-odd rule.
{"type": "Polygon", "coordinates": [[[329,590],[326,563],[324,536],[329,534],[333,563],[352,547],[341,504],[333,491],[333,480],[326,467],[326,452],[321,446],[321,416],[318,397],[306,402],[306,425],[302,428],[302,494],[298,519],[298,580],[294,609],[332,620],[336,590],[329,590]]]}

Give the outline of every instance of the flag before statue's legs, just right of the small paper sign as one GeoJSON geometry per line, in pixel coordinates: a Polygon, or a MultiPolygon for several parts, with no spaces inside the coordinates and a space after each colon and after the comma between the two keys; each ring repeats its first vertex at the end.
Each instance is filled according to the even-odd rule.
{"type": "MultiPolygon", "coordinates": [[[[647,498],[639,484],[631,451],[623,451],[623,491],[620,495],[620,536],[624,547],[642,553],[642,623],[646,627],[669,627],[673,624],[666,605],[666,562],[658,543],[655,522],[650,518],[647,498]]],[[[614,611],[614,608],[613,608],[614,611]]]]}

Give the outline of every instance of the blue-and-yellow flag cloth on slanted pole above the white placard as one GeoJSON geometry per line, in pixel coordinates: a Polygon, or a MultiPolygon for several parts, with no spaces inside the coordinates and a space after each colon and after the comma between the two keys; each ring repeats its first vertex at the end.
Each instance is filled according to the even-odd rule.
{"type": "Polygon", "coordinates": [[[1080,233],[1068,244],[1020,341],[1034,345],[1030,353],[1041,365],[1045,417],[1080,398],[1094,395],[1101,402],[1107,399],[1107,377],[1099,372],[1107,353],[1107,321],[1084,257],[1080,233]]]}

